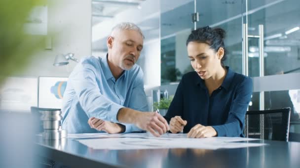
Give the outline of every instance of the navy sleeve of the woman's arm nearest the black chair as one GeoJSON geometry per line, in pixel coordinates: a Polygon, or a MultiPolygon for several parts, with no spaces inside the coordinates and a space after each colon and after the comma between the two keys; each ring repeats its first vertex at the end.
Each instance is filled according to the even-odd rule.
{"type": "Polygon", "coordinates": [[[231,105],[228,118],[223,125],[212,126],[218,133],[218,137],[239,137],[245,124],[245,115],[252,95],[252,79],[245,78],[237,86],[235,98],[231,105]]]}

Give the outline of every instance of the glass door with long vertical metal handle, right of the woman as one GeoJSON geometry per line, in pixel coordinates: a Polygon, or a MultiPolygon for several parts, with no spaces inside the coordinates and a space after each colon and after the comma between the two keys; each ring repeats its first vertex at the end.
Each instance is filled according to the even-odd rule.
{"type": "Polygon", "coordinates": [[[243,74],[253,78],[249,110],[300,112],[300,1],[242,0],[243,74]]]}

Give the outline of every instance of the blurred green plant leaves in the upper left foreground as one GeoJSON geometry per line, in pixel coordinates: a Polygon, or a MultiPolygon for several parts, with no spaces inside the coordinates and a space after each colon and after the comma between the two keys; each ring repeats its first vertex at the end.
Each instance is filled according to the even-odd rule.
{"type": "Polygon", "coordinates": [[[32,9],[46,0],[0,0],[0,84],[28,65],[34,52],[44,45],[44,37],[24,33],[32,9]]]}

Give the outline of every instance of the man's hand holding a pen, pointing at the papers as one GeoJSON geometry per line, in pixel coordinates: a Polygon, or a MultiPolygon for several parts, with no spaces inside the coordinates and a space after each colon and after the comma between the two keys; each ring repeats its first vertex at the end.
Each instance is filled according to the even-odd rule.
{"type": "Polygon", "coordinates": [[[170,130],[168,122],[157,112],[137,113],[135,125],[149,131],[155,137],[159,137],[170,130]]]}

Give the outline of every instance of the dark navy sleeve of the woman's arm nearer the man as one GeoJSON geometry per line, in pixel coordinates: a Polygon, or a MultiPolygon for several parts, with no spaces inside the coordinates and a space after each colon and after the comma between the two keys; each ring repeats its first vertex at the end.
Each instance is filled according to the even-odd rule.
{"type": "Polygon", "coordinates": [[[184,103],[183,88],[184,88],[184,77],[178,84],[178,87],[176,89],[171,105],[168,109],[168,112],[164,116],[164,118],[167,120],[168,123],[170,123],[171,118],[174,116],[177,115],[183,116],[183,103],[184,103]]]}

